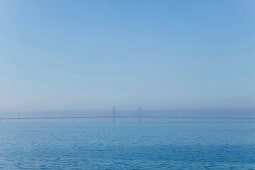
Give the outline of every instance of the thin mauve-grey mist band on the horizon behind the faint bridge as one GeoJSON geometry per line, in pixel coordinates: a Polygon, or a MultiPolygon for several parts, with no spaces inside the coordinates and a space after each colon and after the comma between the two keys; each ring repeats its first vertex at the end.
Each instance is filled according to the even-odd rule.
{"type": "MultiPolygon", "coordinates": [[[[255,109],[119,109],[116,116],[139,117],[200,117],[200,118],[255,118],[255,109]],[[139,110],[140,109],[140,110],[139,110]]],[[[27,112],[0,112],[0,118],[15,117],[93,117],[113,116],[112,108],[74,111],[27,111],[27,112]]]]}

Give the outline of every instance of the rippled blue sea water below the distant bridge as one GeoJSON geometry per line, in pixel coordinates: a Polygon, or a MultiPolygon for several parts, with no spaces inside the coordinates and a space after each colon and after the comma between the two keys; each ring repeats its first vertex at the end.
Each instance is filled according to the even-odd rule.
{"type": "Polygon", "coordinates": [[[255,169],[255,123],[0,123],[0,169],[255,169]]]}

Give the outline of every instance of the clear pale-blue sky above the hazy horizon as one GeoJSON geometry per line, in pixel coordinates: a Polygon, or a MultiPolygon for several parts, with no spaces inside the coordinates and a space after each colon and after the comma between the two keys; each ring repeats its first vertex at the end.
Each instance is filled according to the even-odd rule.
{"type": "Polygon", "coordinates": [[[0,112],[255,108],[255,1],[0,0],[0,112]]]}

